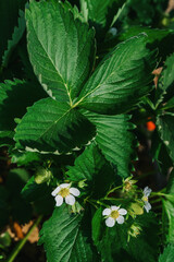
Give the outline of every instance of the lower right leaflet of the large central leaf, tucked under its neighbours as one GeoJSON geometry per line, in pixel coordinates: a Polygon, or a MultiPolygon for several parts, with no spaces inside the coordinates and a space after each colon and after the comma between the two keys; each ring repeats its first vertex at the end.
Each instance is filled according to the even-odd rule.
{"type": "Polygon", "coordinates": [[[129,166],[133,156],[134,128],[126,115],[105,116],[82,110],[85,117],[96,126],[96,142],[105,158],[114,164],[117,175],[129,176],[129,166]]]}

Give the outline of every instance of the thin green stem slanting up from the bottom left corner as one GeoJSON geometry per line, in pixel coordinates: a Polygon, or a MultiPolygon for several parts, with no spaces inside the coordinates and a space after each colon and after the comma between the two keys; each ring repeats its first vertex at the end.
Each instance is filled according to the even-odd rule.
{"type": "Polygon", "coordinates": [[[35,227],[37,227],[40,223],[40,221],[42,219],[42,215],[39,216],[37,218],[37,221],[34,223],[34,225],[30,227],[29,231],[26,234],[25,238],[22,239],[16,247],[14,248],[14,250],[12,251],[11,255],[9,257],[9,259],[7,260],[7,262],[13,262],[15,260],[15,258],[17,257],[17,254],[20,253],[20,251],[22,250],[22,248],[24,247],[24,245],[26,243],[29,235],[33,233],[33,230],[35,229],[35,227]]]}

